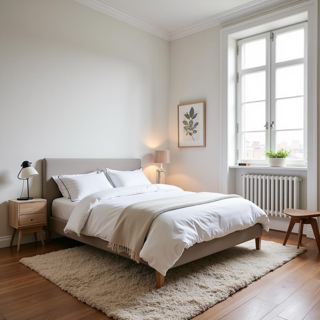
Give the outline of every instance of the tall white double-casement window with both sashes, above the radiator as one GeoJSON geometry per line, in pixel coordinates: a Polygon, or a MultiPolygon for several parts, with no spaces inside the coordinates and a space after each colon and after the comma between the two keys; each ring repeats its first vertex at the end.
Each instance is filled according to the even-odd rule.
{"type": "Polygon", "coordinates": [[[238,40],[237,156],[267,163],[265,151],[291,150],[306,165],[307,23],[238,40]]]}

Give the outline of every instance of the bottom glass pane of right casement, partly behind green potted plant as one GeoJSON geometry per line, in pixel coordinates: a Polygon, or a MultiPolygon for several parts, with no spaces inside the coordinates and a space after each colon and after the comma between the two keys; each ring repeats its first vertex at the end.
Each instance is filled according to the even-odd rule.
{"type": "Polygon", "coordinates": [[[303,130],[277,131],[276,148],[291,150],[290,160],[303,159],[303,130]]]}

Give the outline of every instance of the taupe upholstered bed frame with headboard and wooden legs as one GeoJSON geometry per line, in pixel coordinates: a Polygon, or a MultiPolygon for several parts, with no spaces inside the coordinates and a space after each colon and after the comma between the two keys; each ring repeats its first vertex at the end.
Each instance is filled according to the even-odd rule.
{"type": "MultiPolygon", "coordinates": [[[[130,259],[130,256],[125,252],[116,253],[108,248],[108,241],[102,240],[94,236],[81,235],[78,237],[75,233],[65,234],[63,229],[68,221],[52,217],[52,201],[62,197],[57,184],[52,179],[52,176],[59,174],[81,174],[92,171],[105,171],[108,167],[114,170],[134,170],[141,167],[140,159],[59,159],[59,158],[44,158],[43,159],[43,198],[47,199],[47,229],[46,241],[50,241],[51,233],[56,232],[60,235],[67,236],[85,244],[103,249],[114,254],[130,259]]],[[[206,257],[212,253],[216,253],[237,244],[255,239],[256,249],[260,250],[261,246],[262,227],[259,223],[254,226],[236,231],[223,236],[221,238],[212,239],[202,243],[196,243],[192,247],[184,250],[179,260],[172,266],[178,267],[182,264],[206,257]]],[[[140,259],[141,263],[148,262],[140,259]]],[[[164,276],[156,271],[156,287],[160,288],[164,285],[164,276]]]]}

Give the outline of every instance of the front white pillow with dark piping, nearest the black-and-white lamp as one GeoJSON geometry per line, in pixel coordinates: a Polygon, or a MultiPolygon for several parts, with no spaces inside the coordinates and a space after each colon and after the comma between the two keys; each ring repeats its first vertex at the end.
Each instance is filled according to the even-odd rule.
{"type": "Polygon", "coordinates": [[[80,201],[97,191],[113,189],[103,171],[78,177],[59,176],[59,179],[68,190],[71,201],[80,201]]]}

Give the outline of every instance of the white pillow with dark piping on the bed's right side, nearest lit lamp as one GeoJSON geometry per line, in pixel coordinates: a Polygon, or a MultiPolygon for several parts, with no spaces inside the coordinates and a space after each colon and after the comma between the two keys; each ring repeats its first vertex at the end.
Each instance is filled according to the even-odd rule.
{"type": "Polygon", "coordinates": [[[142,172],[142,168],[132,171],[118,171],[106,168],[106,172],[115,188],[151,184],[142,172]]]}

